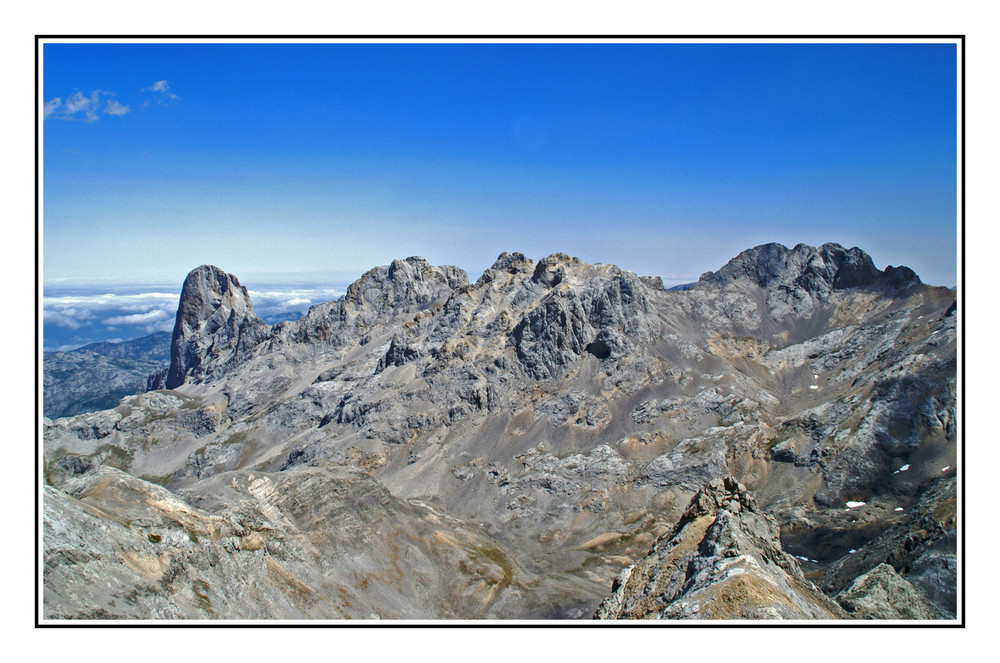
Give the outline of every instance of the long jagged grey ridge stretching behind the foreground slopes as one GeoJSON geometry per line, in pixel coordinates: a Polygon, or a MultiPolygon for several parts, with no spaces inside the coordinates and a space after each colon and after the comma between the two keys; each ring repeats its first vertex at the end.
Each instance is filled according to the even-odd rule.
{"type": "MultiPolygon", "coordinates": [[[[730,475],[807,573],[847,569],[849,548],[874,559],[893,507],[954,464],[954,296],[905,268],[852,277],[866,256],[829,245],[803,278],[813,259],[796,250],[809,253],[755,259],[765,286],[754,271],[680,292],[563,254],[501,254],[471,285],[409,258],[272,328],[234,277],[210,276],[195,291],[218,296],[181,316],[197,355],[183,384],[47,424],[46,475],[61,486],[113,465],[184,491],[227,472],[353,468],[538,574],[491,590],[497,615],[589,616],[692,492],[730,475]]],[[[954,559],[947,537],[936,545],[954,559]]],[[[851,568],[847,581],[873,566],[851,568]]],[[[946,600],[946,572],[897,571],[946,600]]]]}

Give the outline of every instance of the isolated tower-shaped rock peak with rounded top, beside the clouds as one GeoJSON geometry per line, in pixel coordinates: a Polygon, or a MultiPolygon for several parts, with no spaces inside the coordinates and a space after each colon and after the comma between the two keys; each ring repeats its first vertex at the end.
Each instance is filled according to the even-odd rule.
{"type": "Polygon", "coordinates": [[[269,330],[235,276],[212,265],[192,270],[177,305],[165,386],[174,389],[231,368],[269,330]]]}

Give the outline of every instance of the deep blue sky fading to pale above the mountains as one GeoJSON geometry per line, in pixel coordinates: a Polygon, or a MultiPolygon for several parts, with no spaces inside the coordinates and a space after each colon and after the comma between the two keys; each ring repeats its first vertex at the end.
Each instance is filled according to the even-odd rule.
{"type": "Polygon", "coordinates": [[[504,250],[671,284],[769,241],[958,280],[952,44],[47,44],[43,67],[46,284],[410,255],[475,279],[504,250]]]}

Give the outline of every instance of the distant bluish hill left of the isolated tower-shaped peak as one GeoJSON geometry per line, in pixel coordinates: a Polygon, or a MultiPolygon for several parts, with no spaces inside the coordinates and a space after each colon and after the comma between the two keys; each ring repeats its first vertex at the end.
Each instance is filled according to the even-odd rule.
{"type": "Polygon", "coordinates": [[[123,396],[145,391],[149,374],[169,364],[167,332],[46,352],[42,411],[56,419],[112,408],[123,396]]]}

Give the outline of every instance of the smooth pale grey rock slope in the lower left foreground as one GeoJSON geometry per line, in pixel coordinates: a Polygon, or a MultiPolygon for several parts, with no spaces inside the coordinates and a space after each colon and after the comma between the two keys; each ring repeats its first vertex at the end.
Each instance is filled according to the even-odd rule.
{"type": "Polygon", "coordinates": [[[43,503],[49,619],[488,617],[529,579],[481,533],[339,468],[178,495],[103,467],[43,503]]]}

